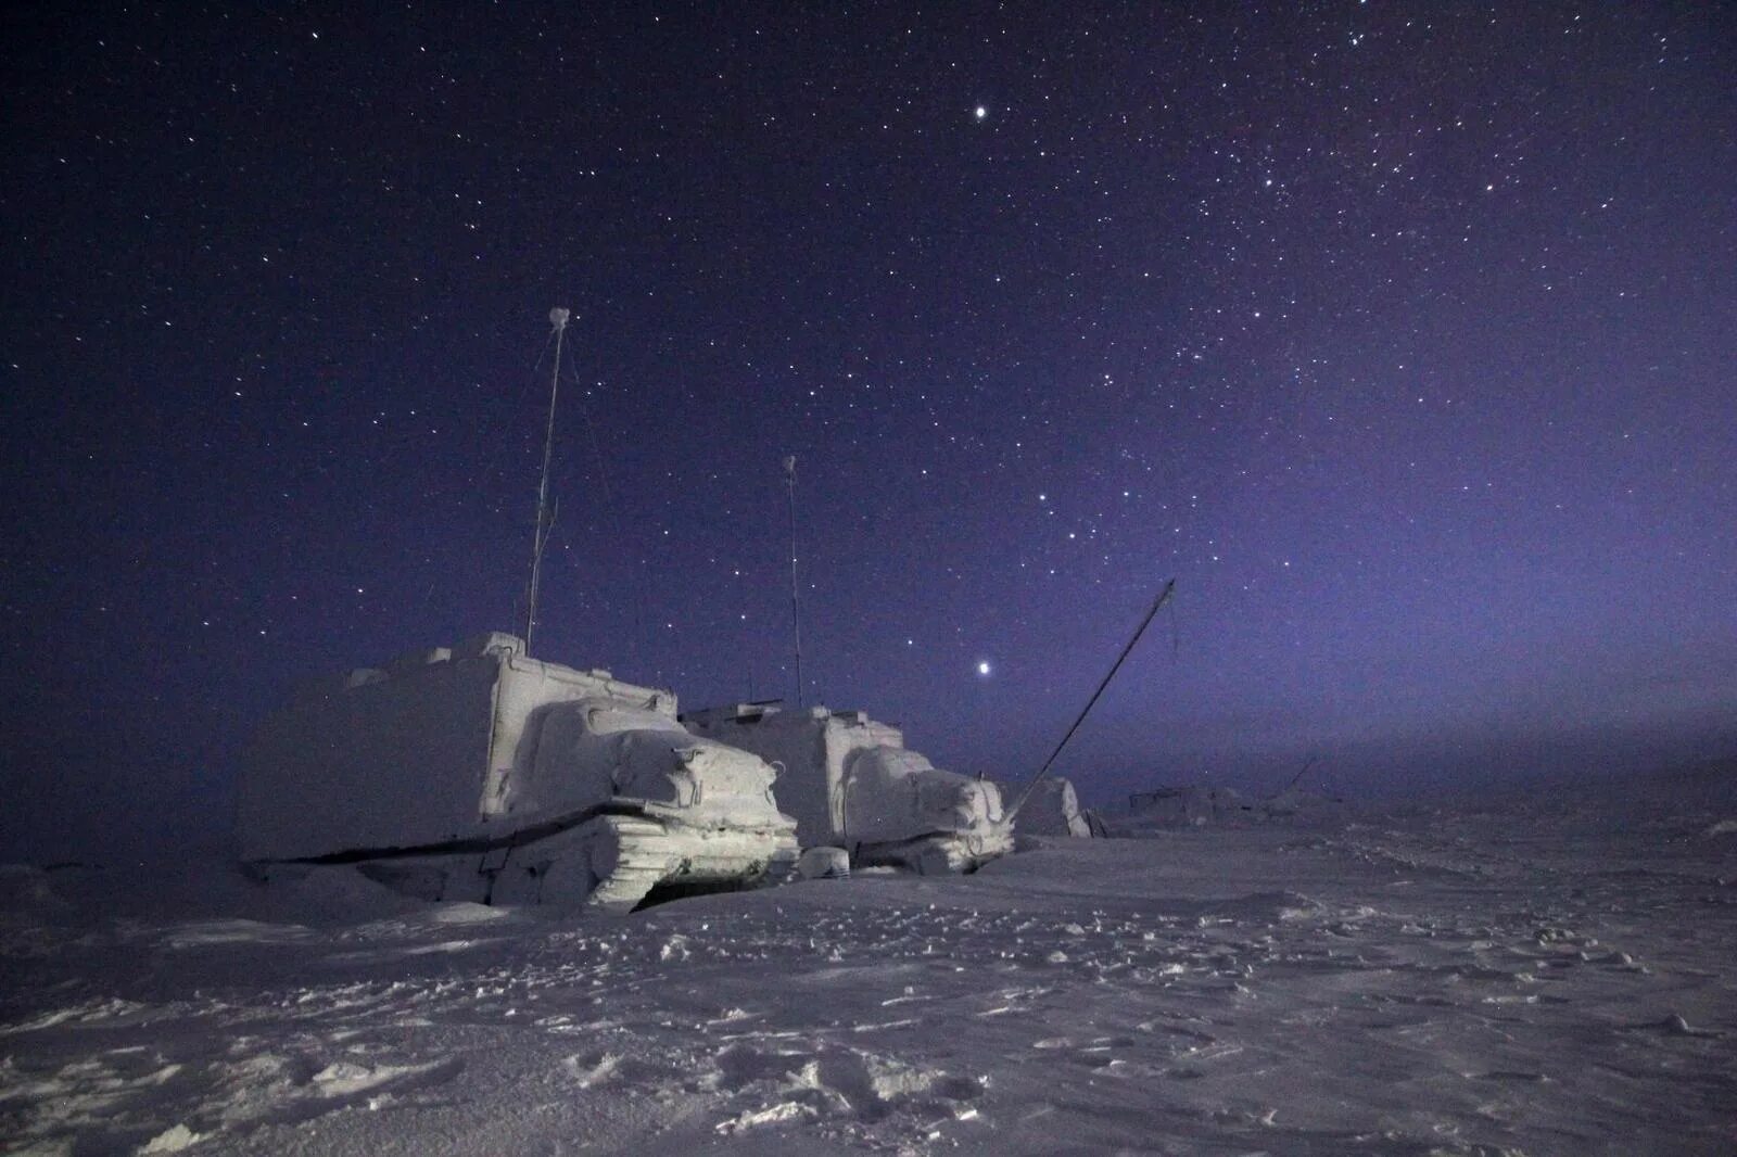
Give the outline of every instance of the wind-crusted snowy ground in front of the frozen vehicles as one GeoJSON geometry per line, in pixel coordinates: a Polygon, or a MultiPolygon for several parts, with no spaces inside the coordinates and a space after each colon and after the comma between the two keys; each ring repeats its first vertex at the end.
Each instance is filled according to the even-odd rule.
{"type": "Polygon", "coordinates": [[[1730,1154],[1737,811],[1622,806],[1035,841],[617,921],[7,869],[0,1138],[1730,1154]]]}

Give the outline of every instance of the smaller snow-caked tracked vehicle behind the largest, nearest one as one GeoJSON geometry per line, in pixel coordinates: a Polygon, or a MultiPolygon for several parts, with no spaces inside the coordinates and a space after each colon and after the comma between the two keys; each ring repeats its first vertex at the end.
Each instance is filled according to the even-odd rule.
{"type": "Polygon", "coordinates": [[[856,867],[919,872],[969,872],[1013,848],[999,787],[936,768],[862,711],[735,704],[683,723],[783,766],[778,806],[796,817],[804,848],[841,846],[856,867]]]}

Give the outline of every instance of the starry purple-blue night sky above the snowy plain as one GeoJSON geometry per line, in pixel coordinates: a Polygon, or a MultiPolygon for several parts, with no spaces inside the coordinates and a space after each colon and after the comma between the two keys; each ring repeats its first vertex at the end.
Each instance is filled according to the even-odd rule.
{"type": "Polygon", "coordinates": [[[1737,750],[1716,3],[12,5],[0,855],[523,632],[1087,799],[1737,750]],[[379,10],[377,10],[379,9],[379,10]],[[804,10],[806,9],[806,10],[804,10]],[[988,674],[980,672],[988,664],[988,674]]]}

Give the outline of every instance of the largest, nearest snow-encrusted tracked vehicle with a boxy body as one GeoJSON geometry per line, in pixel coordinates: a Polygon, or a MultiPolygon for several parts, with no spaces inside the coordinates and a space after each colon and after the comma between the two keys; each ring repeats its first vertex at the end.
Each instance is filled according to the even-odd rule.
{"type": "Polygon", "coordinates": [[[653,888],[776,881],[775,771],[688,733],[670,691],[485,634],[302,690],[261,728],[241,860],[354,863],[429,900],[632,910],[653,888]]]}

